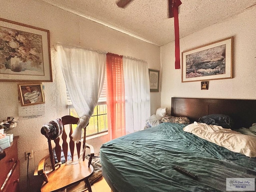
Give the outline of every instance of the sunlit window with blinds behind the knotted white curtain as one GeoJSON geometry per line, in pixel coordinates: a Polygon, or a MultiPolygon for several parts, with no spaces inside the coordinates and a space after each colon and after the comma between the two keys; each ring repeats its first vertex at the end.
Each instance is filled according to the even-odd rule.
{"type": "MultiPolygon", "coordinates": [[[[68,91],[67,91],[67,97],[68,97],[69,114],[74,117],[79,117],[74,106],[72,105],[68,91]]],[[[76,125],[73,126],[73,129],[75,128],[76,128],[76,125]]],[[[92,114],[89,121],[89,125],[86,128],[86,136],[94,135],[94,134],[98,134],[106,131],[108,131],[108,118],[107,118],[106,78],[105,78],[102,92],[98,100],[98,104],[94,108],[94,113],[92,114]]]]}

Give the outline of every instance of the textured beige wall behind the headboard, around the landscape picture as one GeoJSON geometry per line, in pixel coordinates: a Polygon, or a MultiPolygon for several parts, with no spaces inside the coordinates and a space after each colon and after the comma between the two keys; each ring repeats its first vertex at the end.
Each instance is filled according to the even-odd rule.
{"type": "Polygon", "coordinates": [[[171,97],[256,99],[256,6],[180,39],[180,52],[234,36],[233,77],[210,80],[209,90],[201,82],[181,82],[181,70],[175,70],[174,42],[161,47],[161,106],[171,106],[171,97]],[[171,76],[171,78],[170,78],[171,76]]]}

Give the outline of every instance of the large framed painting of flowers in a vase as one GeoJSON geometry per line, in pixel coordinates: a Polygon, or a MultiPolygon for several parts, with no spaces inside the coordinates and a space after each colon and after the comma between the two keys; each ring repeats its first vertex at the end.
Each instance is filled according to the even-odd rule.
{"type": "Polygon", "coordinates": [[[0,18],[0,81],[52,82],[48,30],[0,18]]]}

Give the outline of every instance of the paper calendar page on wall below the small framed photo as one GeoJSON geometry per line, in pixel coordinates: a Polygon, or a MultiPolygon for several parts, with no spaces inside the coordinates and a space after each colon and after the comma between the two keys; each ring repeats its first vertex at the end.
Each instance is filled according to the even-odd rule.
{"type": "Polygon", "coordinates": [[[31,119],[45,116],[45,104],[21,106],[18,108],[19,119],[31,119]]]}

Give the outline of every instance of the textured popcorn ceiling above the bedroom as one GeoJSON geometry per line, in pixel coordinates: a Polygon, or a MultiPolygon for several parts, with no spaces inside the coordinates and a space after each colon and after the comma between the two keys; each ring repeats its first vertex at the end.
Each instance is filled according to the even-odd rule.
{"type": "MultiPolygon", "coordinates": [[[[116,0],[42,0],[100,24],[162,46],[174,41],[168,0],[133,0],[126,8],[116,0]]],[[[180,38],[255,6],[256,0],[181,0],[180,38]]]]}

